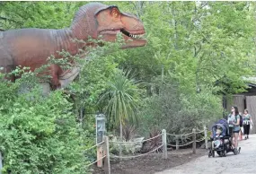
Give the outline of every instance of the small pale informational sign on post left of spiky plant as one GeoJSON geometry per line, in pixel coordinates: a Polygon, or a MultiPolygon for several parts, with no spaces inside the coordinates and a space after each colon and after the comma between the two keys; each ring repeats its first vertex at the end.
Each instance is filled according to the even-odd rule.
{"type": "Polygon", "coordinates": [[[106,132],[106,117],[104,114],[96,115],[96,144],[103,141],[103,136],[106,132]]]}

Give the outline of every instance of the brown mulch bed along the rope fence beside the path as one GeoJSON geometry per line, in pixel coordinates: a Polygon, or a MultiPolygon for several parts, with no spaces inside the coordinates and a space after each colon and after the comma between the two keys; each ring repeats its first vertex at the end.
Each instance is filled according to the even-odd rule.
{"type": "MultiPolygon", "coordinates": [[[[196,158],[207,155],[206,149],[197,149],[193,154],[191,149],[181,149],[168,152],[168,159],[162,159],[162,153],[153,153],[146,156],[122,161],[110,161],[111,174],[153,174],[154,172],[166,170],[179,166],[196,158]]],[[[103,174],[102,168],[93,166],[93,174],[103,174]]]]}

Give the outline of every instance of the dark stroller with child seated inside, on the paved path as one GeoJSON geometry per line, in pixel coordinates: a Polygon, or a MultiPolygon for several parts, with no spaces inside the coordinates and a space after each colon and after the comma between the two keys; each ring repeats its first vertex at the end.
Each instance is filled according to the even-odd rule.
{"type": "MultiPolygon", "coordinates": [[[[231,135],[229,134],[228,123],[225,119],[220,119],[212,126],[212,136],[210,138],[211,147],[209,148],[208,157],[215,157],[215,152],[220,157],[225,157],[227,152],[234,152],[231,135]]],[[[239,147],[237,153],[241,151],[239,147]]]]}

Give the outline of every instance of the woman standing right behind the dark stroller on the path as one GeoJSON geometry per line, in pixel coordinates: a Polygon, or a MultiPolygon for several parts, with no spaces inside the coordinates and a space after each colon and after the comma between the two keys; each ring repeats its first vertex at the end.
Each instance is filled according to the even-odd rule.
{"type": "Polygon", "coordinates": [[[234,154],[237,154],[238,134],[240,131],[240,116],[237,107],[231,107],[231,113],[228,115],[227,122],[229,124],[229,134],[231,135],[231,142],[234,147],[234,154]]]}

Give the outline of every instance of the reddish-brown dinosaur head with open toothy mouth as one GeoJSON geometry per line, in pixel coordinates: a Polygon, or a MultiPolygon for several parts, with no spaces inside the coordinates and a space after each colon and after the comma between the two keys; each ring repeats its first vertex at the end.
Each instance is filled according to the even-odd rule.
{"type": "Polygon", "coordinates": [[[120,13],[115,5],[89,3],[80,7],[72,23],[77,39],[98,39],[115,41],[120,33],[126,44],[122,48],[137,48],[146,45],[143,23],[133,14],[120,13]]]}

